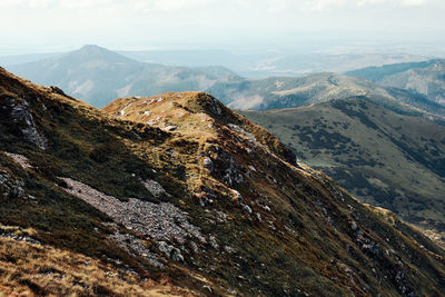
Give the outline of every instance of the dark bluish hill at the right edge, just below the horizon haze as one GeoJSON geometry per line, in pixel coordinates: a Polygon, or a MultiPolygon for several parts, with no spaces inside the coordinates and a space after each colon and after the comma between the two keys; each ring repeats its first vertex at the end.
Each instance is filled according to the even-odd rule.
{"type": "Polygon", "coordinates": [[[445,60],[368,67],[346,75],[383,86],[412,90],[445,106],[445,60]]]}

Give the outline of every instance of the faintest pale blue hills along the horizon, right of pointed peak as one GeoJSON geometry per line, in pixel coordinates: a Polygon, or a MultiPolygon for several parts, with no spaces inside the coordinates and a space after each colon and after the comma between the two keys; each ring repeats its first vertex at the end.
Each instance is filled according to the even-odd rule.
{"type": "Polygon", "coordinates": [[[380,66],[390,62],[422,61],[424,56],[408,53],[328,53],[314,49],[298,50],[146,50],[119,51],[145,62],[172,66],[220,65],[247,77],[263,79],[270,76],[303,76],[323,71],[344,72],[359,67],[380,66]]]}

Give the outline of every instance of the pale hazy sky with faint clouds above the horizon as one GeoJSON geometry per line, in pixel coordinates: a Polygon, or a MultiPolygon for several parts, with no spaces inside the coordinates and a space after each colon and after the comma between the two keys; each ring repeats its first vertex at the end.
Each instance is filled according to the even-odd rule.
{"type": "Polygon", "coordinates": [[[0,55],[298,42],[445,43],[445,0],[0,0],[0,55]]]}

